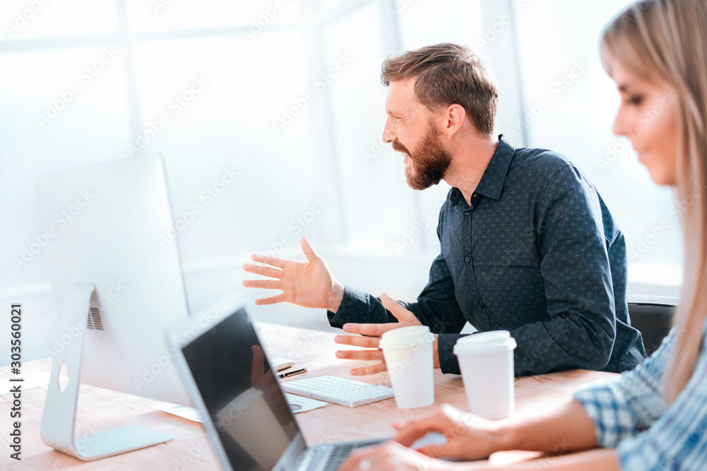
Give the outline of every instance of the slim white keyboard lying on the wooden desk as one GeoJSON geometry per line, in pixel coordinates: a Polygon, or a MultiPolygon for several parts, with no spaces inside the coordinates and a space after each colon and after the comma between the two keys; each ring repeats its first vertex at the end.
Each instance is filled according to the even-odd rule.
{"type": "Polygon", "coordinates": [[[282,383],[282,388],[292,394],[325,400],[327,403],[356,407],[393,397],[392,388],[362,383],[337,376],[316,376],[282,383]]]}

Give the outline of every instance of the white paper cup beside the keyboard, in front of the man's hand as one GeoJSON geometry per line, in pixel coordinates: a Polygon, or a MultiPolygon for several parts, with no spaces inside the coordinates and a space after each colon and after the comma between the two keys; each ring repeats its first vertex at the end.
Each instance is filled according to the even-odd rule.
{"type": "Polygon", "coordinates": [[[412,409],[435,402],[434,341],[427,326],[401,327],[380,336],[378,346],[390,372],[397,407],[412,409]]]}

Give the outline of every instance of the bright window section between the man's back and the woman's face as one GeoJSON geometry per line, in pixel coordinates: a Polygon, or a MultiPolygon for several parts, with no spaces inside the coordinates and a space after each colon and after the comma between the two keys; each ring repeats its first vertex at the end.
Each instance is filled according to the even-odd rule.
{"type": "Polygon", "coordinates": [[[564,153],[597,186],[626,236],[629,279],[638,283],[630,294],[677,294],[659,286],[679,284],[682,266],[672,191],[653,184],[629,140],[613,135],[619,93],[598,54],[602,26],[630,2],[518,1],[527,4],[518,15],[525,91],[518,137],[564,153]]]}

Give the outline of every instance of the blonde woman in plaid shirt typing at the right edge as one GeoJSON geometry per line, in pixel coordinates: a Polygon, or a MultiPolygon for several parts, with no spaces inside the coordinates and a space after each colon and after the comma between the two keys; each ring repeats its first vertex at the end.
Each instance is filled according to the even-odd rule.
{"type": "Polygon", "coordinates": [[[636,369],[578,390],[556,410],[489,422],[444,406],[398,424],[396,441],[356,453],[341,469],[497,469],[407,448],[438,431],[448,442],[423,449],[427,455],[563,453],[504,469],[707,470],[707,1],[633,4],[607,25],[601,56],[621,93],[614,133],[631,140],[653,181],[674,188],[681,211],[684,286],[674,329],[636,369]]]}

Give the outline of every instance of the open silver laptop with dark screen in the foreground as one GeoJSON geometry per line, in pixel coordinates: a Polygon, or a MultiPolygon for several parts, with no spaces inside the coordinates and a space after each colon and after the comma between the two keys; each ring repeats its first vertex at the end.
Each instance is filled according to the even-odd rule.
{"type": "Polygon", "coordinates": [[[238,297],[170,328],[192,404],[224,470],[336,470],[351,450],[382,439],[307,446],[238,297]]]}

